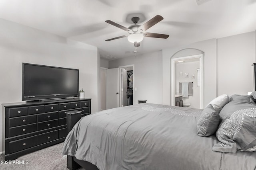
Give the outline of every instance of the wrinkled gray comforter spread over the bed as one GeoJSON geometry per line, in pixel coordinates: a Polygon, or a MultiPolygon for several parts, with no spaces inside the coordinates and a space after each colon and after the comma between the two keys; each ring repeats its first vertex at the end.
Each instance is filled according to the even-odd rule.
{"type": "Polygon", "coordinates": [[[199,137],[202,109],[138,104],[83,117],[62,153],[100,170],[255,170],[256,152],[212,151],[215,135],[199,137]]]}

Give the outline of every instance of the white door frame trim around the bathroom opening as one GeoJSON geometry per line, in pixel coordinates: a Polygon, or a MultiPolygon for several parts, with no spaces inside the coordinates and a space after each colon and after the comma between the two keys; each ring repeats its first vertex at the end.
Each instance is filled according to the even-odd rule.
{"type": "Polygon", "coordinates": [[[171,106],[174,105],[174,95],[175,95],[175,61],[186,60],[186,59],[195,59],[199,58],[200,65],[200,109],[204,108],[204,54],[190,55],[186,57],[178,57],[171,59],[171,106]]]}

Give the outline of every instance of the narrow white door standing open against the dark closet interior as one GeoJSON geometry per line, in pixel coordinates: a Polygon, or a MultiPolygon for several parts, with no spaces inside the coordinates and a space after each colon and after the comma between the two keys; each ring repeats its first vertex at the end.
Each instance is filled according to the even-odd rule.
{"type": "Polygon", "coordinates": [[[127,106],[127,71],[124,68],[120,68],[120,107],[127,106]]]}

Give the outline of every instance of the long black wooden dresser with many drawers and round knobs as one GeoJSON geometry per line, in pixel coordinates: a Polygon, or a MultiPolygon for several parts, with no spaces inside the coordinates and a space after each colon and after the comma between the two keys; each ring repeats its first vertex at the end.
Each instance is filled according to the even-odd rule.
{"type": "Polygon", "coordinates": [[[63,142],[67,136],[66,111],[91,113],[91,99],[73,98],[21,102],[3,106],[3,156],[18,156],[63,142]]]}

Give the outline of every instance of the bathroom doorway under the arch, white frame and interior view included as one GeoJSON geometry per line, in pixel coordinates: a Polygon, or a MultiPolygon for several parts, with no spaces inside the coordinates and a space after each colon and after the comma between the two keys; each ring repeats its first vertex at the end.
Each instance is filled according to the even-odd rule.
{"type": "Polygon", "coordinates": [[[203,108],[203,54],[171,60],[172,106],[203,108]]]}

